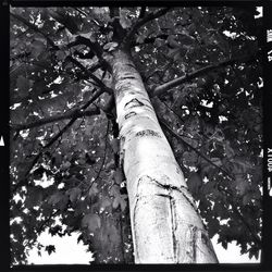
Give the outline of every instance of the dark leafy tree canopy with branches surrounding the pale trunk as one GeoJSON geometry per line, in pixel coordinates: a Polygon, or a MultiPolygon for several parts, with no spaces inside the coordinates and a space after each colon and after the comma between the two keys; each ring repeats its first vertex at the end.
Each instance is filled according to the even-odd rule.
{"type": "Polygon", "coordinates": [[[111,71],[134,62],[210,237],[261,249],[261,18],[255,7],[10,10],[12,263],[78,233],[96,262],[133,262],[111,71]]]}

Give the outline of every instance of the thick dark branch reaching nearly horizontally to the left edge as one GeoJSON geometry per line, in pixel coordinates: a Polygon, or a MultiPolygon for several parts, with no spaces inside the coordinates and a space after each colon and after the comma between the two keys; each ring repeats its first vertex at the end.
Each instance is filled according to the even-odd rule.
{"type": "Polygon", "coordinates": [[[37,120],[36,122],[33,123],[28,123],[28,124],[13,124],[11,127],[14,131],[23,131],[23,129],[28,129],[28,128],[33,128],[33,127],[37,127],[37,126],[41,126],[48,123],[52,123],[52,122],[57,122],[57,121],[61,121],[61,120],[65,120],[65,119],[73,119],[73,118],[82,118],[82,116],[91,116],[91,115],[96,115],[99,114],[100,110],[98,108],[92,108],[90,110],[86,110],[86,111],[81,111],[78,109],[71,111],[71,112],[65,112],[63,114],[58,114],[54,116],[49,116],[49,118],[45,118],[45,119],[40,119],[37,120]]]}

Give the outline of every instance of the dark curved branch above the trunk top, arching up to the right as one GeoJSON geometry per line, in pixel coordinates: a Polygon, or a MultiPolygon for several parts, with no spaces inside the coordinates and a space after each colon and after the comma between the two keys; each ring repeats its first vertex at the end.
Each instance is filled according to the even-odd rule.
{"type": "Polygon", "coordinates": [[[135,35],[135,33],[145,24],[147,24],[148,22],[158,18],[162,15],[164,15],[165,13],[168,13],[171,10],[171,8],[164,8],[161,9],[157,12],[153,13],[148,13],[146,14],[143,18],[139,18],[135,25],[132,27],[132,29],[127,33],[126,37],[124,38],[124,44],[129,44],[133,40],[133,36],[135,35]]]}

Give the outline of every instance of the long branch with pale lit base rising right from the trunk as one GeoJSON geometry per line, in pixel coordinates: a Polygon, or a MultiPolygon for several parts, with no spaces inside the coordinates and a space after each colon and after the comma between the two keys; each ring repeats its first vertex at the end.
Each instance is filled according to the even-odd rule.
{"type": "MultiPolygon", "coordinates": [[[[248,59],[247,59],[248,60],[248,59]]],[[[151,94],[152,97],[156,97],[156,96],[160,96],[162,95],[163,92],[165,92],[166,90],[171,89],[171,88],[174,88],[183,83],[186,83],[186,82],[189,82],[198,76],[201,76],[201,75],[205,75],[207,74],[208,72],[211,72],[213,70],[217,70],[217,69],[220,69],[220,67],[224,67],[224,66],[227,66],[227,65],[233,65],[235,64],[236,62],[243,62],[245,61],[245,59],[234,59],[234,60],[227,60],[227,61],[223,61],[223,62],[220,62],[220,63],[217,63],[217,64],[213,64],[213,65],[208,65],[206,67],[202,67],[202,69],[199,69],[190,74],[187,74],[185,76],[181,76],[178,78],[175,78],[173,81],[170,81],[168,83],[164,83],[158,87],[156,87],[151,94]]]]}

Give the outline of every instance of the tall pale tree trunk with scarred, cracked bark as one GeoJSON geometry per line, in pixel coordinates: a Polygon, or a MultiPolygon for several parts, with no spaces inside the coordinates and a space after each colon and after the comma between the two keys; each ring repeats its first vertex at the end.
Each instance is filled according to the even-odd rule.
{"type": "Polygon", "coordinates": [[[218,262],[131,54],[112,55],[135,262],[218,262]]]}

